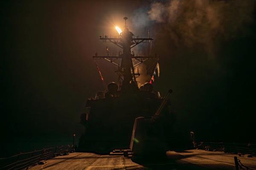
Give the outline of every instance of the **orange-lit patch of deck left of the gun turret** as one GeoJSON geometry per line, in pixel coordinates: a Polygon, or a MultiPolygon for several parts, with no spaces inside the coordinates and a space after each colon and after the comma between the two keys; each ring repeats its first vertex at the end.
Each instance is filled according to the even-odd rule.
{"type": "Polygon", "coordinates": [[[134,167],[143,168],[123,156],[97,155],[95,153],[70,153],[47,160],[46,164],[36,165],[30,170],[122,170],[134,167]]]}

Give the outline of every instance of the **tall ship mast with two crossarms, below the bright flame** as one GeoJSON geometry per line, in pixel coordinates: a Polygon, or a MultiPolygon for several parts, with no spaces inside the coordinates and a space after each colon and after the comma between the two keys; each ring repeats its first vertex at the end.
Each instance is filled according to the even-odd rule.
{"type": "Polygon", "coordinates": [[[112,42],[113,44],[117,45],[119,48],[122,48],[122,53],[119,53],[118,56],[93,56],[93,59],[105,59],[114,65],[117,65],[118,68],[116,69],[116,73],[119,76],[119,88],[121,91],[132,91],[138,89],[136,78],[140,76],[140,73],[137,71],[135,73],[134,67],[141,64],[142,62],[148,59],[159,59],[158,56],[135,56],[134,52],[131,52],[131,48],[134,48],[136,45],[140,44],[141,42],[151,43],[153,38],[139,38],[134,37],[134,34],[128,30],[126,27],[126,20],[128,18],[124,17],[125,20],[125,30],[122,31],[118,38],[111,38],[107,35],[103,35],[104,37],[100,36],[99,39],[103,42],[112,42]],[[121,65],[117,64],[115,60],[122,59],[121,65]],[[133,65],[132,59],[137,59],[139,63],[133,65]]]}

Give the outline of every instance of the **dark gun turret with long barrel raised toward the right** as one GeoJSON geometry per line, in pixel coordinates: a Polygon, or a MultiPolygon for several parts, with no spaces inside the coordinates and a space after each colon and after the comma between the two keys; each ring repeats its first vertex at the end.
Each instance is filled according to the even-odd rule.
{"type": "Polygon", "coordinates": [[[157,155],[159,158],[166,156],[167,141],[163,134],[164,127],[162,123],[155,122],[159,122],[158,118],[163,115],[162,110],[171,93],[170,89],[151,119],[145,117],[135,119],[130,143],[130,150],[134,153],[133,161],[139,161],[149,155],[157,155]]]}

